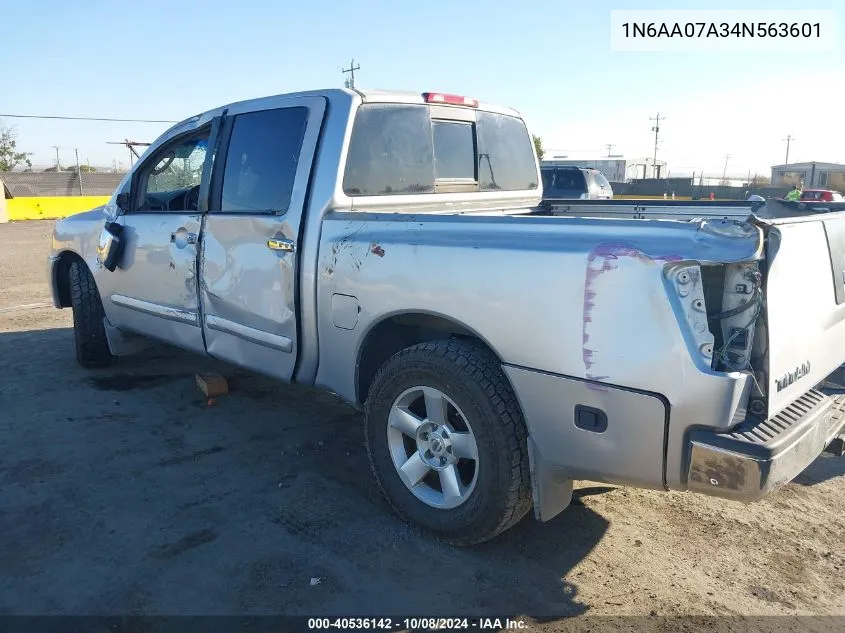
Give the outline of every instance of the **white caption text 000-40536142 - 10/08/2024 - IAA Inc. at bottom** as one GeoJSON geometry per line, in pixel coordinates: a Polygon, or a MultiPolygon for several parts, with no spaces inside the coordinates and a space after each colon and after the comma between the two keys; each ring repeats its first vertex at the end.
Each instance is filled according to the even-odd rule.
{"type": "Polygon", "coordinates": [[[440,631],[518,631],[528,623],[512,618],[309,618],[309,630],[440,630],[440,631]]]}

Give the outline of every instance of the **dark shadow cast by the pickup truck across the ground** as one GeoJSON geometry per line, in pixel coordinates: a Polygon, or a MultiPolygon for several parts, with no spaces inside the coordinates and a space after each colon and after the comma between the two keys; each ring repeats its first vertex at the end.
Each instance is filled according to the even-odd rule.
{"type": "Polygon", "coordinates": [[[10,613],[547,620],[590,608],[575,568],[609,524],[581,499],[613,488],[453,548],[396,518],[361,414],[331,394],[164,346],[85,371],[67,328],[0,334],[0,373],[14,420],[0,425],[15,456],[0,466],[10,613]],[[229,378],[213,406],[200,371],[229,378]]]}

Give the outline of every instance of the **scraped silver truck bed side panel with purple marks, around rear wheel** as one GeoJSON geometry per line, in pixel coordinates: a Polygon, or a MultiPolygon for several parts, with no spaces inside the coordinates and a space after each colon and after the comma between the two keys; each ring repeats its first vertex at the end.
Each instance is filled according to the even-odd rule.
{"type": "Polygon", "coordinates": [[[724,231],[730,239],[685,222],[330,214],[318,267],[317,382],[360,401],[368,336],[403,315],[442,319],[496,350],[519,385],[529,432],[546,440],[540,450],[565,458],[557,463],[573,478],[681,489],[683,420],[736,423],[749,379],[711,371],[697,355],[681,305],[667,300],[664,268],[759,255],[758,231],[724,231]],[[356,298],[354,329],[335,323],[338,296],[356,298]],[[547,397],[525,395],[535,391],[547,397]],[[575,426],[576,403],[604,407],[608,430],[575,426]],[[678,415],[667,429],[668,408],[678,415]]]}

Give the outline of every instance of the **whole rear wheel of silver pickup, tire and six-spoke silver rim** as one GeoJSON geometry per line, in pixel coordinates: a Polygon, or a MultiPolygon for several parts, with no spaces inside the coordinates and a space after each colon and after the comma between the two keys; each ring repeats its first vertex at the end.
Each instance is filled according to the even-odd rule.
{"type": "Polygon", "coordinates": [[[367,397],[367,449],[385,497],[454,545],[492,539],[528,512],[526,437],[499,360],[476,343],[402,350],[367,397]]]}

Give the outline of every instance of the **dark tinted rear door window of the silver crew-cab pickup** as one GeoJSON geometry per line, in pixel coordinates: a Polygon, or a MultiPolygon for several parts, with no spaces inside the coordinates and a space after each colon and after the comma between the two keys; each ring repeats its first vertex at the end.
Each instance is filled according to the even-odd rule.
{"type": "Polygon", "coordinates": [[[308,108],[239,114],[223,172],[221,210],[284,213],[293,194],[308,108]]]}

